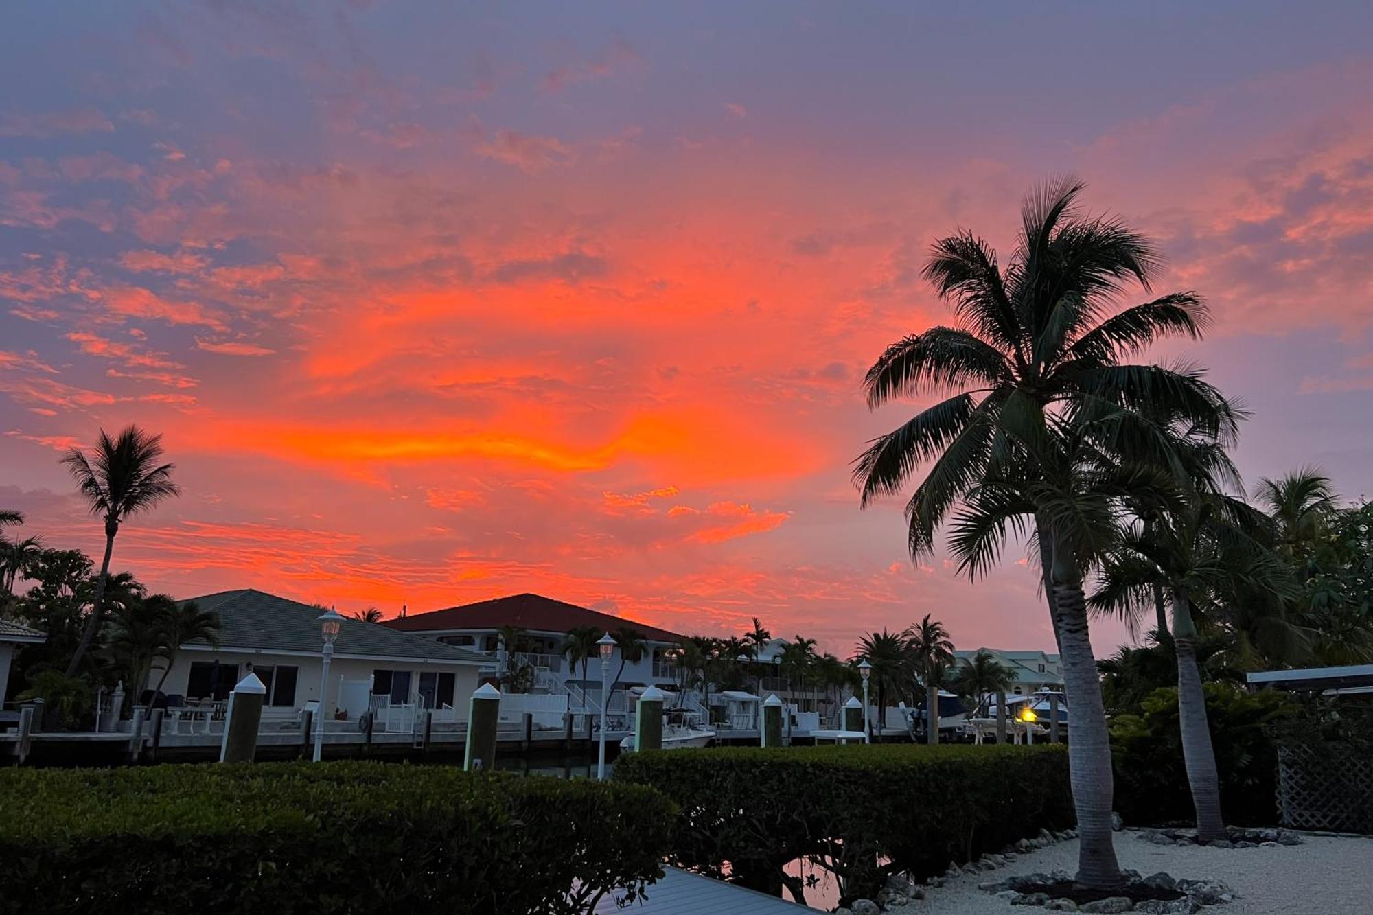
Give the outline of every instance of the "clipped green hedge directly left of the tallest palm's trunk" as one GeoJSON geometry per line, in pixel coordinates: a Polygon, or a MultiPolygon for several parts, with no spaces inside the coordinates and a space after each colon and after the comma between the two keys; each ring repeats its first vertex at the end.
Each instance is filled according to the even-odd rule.
{"type": "Polygon", "coordinates": [[[677,802],[674,863],[798,899],[799,881],[783,875],[796,859],[835,872],[849,901],[887,872],[939,874],[1075,822],[1061,746],[636,753],[616,761],[615,780],[677,802]]]}

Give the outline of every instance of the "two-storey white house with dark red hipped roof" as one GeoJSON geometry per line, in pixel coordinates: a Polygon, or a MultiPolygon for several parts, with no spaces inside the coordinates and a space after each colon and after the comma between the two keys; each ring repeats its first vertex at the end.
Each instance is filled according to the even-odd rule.
{"type": "Polygon", "coordinates": [[[501,626],[516,626],[523,631],[523,635],[519,644],[515,646],[511,659],[518,666],[533,668],[533,691],[571,691],[595,705],[599,705],[597,697],[601,688],[600,661],[592,657],[586,659],[585,668],[578,662],[574,669],[563,654],[563,646],[567,644],[570,632],[579,628],[590,628],[597,633],[614,633],[618,629],[638,632],[647,651],[643,659],[626,662],[623,670],[621,670],[621,657],[616,651],[610,668],[610,677],[614,680],[612,692],[616,688],[649,684],[671,688],[678,679],[677,668],[671,664],[671,654],[678,644],[685,642],[684,636],[667,629],[537,594],[516,594],[411,614],[386,620],[382,625],[398,632],[426,636],[457,648],[476,651],[486,661],[485,673],[489,676],[498,675],[505,661],[500,639],[501,626]],[[570,687],[571,690],[568,690],[570,687]]]}

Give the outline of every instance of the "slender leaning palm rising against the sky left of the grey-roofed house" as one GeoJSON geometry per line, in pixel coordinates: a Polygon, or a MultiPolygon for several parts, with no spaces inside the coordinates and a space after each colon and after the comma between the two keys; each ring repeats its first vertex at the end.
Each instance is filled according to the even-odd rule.
{"type": "Polygon", "coordinates": [[[104,615],[104,585],[110,574],[110,554],[114,552],[114,537],[119,525],[130,515],[147,511],[169,496],[180,495],[172,482],[173,464],[163,464],[162,436],[150,436],[137,426],[129,426],[118,438],[110,438],[100,430],[89,459],[80,448],[71,448],[62,459],[77,481],[77,489],[85,496],[92,515],[104,518],[104,559],[100,561],[100,583],[95,589],[91,615],[86,617],[67,676],[74,676],[81,666],[81,658],[91,648],[95,633],[100,629],[104,615]]]}

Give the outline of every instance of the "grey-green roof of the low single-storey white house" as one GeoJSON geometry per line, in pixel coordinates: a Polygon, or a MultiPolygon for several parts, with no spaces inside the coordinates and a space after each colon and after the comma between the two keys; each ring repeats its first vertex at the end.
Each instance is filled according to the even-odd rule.
{"type": "MultiPolygon", "coordinates": [[[[298,600],[287,600],[275,594],[244,588],[221,591],[194,600],[200,610],[220,614],[220,644],[225,648],[257,648],[262,651],[319,653],[319,615],[321,610],[298,600]]],[[[205,644],[203,642],[200,644],[205,644]]],[[[490,658],[475,651],[397,632],[375,622],[345,618],[339,624],[339,637],[334,643],[339,657],[427,658],[432,661],[481,661],[490,658]]]]}

